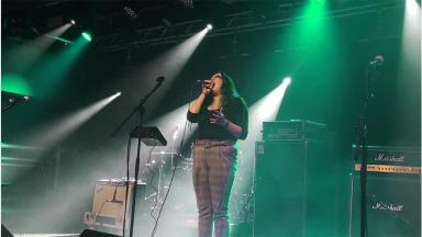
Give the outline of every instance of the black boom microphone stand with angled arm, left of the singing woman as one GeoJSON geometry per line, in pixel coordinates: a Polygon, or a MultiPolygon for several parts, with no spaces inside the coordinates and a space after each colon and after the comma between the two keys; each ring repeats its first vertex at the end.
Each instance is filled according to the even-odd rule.
{"type": "MultiPolygon", "coordinates": [[[[115,131],[111,134],[112,137],[114,137],[119,131],[124,126],[124,124],[126,124],[126,122],[135,114],[135,113],[138,113],[140,114],[140,123],[138,123],[138,127],[142,128],[142,125],[143,125],[143,116],[144,116],[144,113],[145,113],[145,109],[144,109],[144,104],[146,103],[146,101],[149,99],[149,97],[162,86],[163,81],[164,81],[164,77],[158,77],[156,79],[157,83],[155,84],[155,87],[149,91],[149,93],[147,93],[143,99],[141,99],[140,103],[133,109],[133,111],[131,112],[131,114],[129,114],[126,116],[126,119],[124,119],[124,121],[115,128],[115,131]]],[[[132,134],[132,133],[131,133],[132,134]]],[[[130,136],[131,136],[130,134],[130,136]]],[[[131,139],[131,137],[130,137],[131,139]]],[[[127,155],[129,156],[129,155],[127,155]]],[[[131,226],[130,226],[130,237],[133,237],[133,224],[134,224],[134,219],[135,219],[135,210],[136,210],[136,185],[137,185],[137,179],[138,179],[138,174],[140,174],[140,160],[141,160],[141,137],[137,137],[137,148],[136,148],[136,160],[135,160],[135,180],[134,180],[134,184],[133,184],[133,193],[132,193],[132,208],[131,208],[131,226]]],[[[127,201],[127,190],[129,190],[129,177],[126,177],[126,201],[127,201]]],[[[127,205],[127,202],[125,202],[125,205],[127,205]]],[[[126,218],[126,216],[123,217],[124,219],[126,218]]],[[[124,222],[125,223],[125,222],[124,222]]],[[[123,224],[123,236],[124,236],[124,229],[125,229],[125,225],[123,224]]]]}

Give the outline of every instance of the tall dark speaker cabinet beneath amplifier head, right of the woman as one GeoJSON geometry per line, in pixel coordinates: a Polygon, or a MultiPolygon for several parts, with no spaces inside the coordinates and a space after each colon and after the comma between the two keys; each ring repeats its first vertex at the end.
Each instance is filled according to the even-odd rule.
{"type": "Polygon", "coordinates": [[[257,142],[255,237],[327,236],[330,201],[324,142],[257,142]]]}

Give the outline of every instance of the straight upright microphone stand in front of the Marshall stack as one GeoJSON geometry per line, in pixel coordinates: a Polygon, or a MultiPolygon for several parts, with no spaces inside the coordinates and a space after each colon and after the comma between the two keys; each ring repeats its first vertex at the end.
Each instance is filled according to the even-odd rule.
{"type": "Polygon", "coordinates": [[[360,115],[360,128],[359,128],[359,142],[360,142],[360,237],[366,237],[368,235],[368,223],[367,223],[367,210],[366,210],[366,174],[367,174],[367,163],[368,163],[368,148],[367,148],[367,138],[368,138],[368,127],[367,127],[367,116],[368,116],[368,104],[369,100],[375,97],[373,92],[373,82],[375,81],[374,69],[377,69],[377,65],[368,64],[365,72],[365,98],[364,98],[364,108],[360,115]]]}

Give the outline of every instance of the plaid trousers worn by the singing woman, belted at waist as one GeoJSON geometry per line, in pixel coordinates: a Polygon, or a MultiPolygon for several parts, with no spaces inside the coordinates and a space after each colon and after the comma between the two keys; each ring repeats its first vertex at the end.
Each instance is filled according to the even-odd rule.
{"type": "Polygon", "coordinates": [[[193,189],[198,207],[199,237],[230,235],[229,199],[237,163],[233,140],[199,139],[192,144],[193,189]]]}

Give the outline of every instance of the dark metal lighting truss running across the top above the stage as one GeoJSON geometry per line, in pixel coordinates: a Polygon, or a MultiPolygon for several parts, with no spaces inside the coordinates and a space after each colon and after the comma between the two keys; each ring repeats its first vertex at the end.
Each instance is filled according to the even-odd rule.
{"type": "MultiPolygon", "coordinates": [[[[240,11],[225,14],[208,37],[219,37],[224,35],[265,31],[290,25],[301,21],[302,18],[295,12],[303,7],[303,2],[291,2],[279,4],[277,9],[267,12],[265,18],[262,12],[254,10],[240,11]],[[296,15],[296,16],[293,16],[296,15]]],[[[345,1],[343,4],[332,8],[324,13],[326,19],[347,18],[353,15],[364,15],[378,13],[389,9],[403,9],[402,0],[389,1],[345,1]]],[[[126,45],[118,44],[122,33],[114,33],[98,36],[97,46],[103,52],[125,50],[127,45],[132,48],[145,45],[159,45],[177,43],[196,34],[208,24],[206,19],[175,22],[171,27],[157,25],[151,27],[136,29],[135,37],[126,45]]]]}

